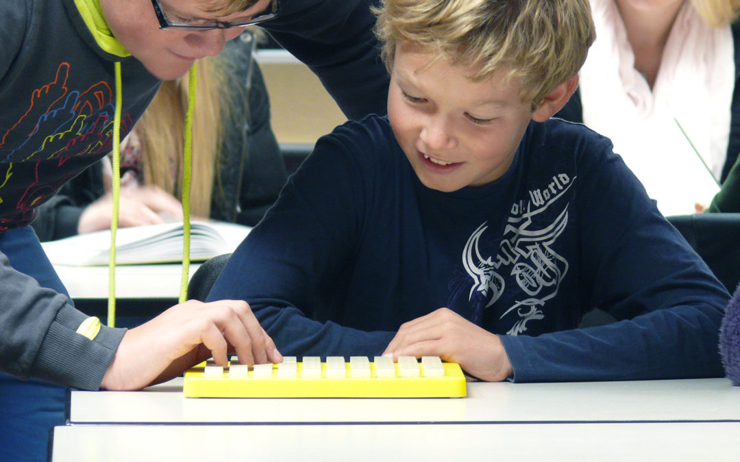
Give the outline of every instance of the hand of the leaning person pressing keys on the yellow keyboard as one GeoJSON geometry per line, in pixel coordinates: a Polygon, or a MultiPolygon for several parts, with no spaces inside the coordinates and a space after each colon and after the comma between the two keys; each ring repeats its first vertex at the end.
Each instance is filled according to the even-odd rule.
{"type": "Polygon", "coordinates": [[[246,302],[189,300],[128,330],[101,388],[138,390],[179,376],[211,356],[226,366],[227,354],[234,351],[244,364],[283,360],[246,302]]]}

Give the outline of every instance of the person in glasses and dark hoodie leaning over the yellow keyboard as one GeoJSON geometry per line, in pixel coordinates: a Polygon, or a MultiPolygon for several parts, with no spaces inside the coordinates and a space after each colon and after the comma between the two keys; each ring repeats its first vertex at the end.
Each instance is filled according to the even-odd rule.
{"type": "MultiPolygon", "coordinates": [[[[129,329],[73,302],[33,229],[38,205],[116,152],[163,80],[262,24],[349,118],[385,112],[372,0],[0,2],[0,444],[44,460],[63,387],[135,390],[213,356],[280,361],[245,302],[175,305],[129,329]],[[22,380],[19,380],[22,379],[22,380]]],[[[195,153],[197,155],[197,153],[195,153]]],[[[195,175],[198,172],[194,172],[195,175]]]]}

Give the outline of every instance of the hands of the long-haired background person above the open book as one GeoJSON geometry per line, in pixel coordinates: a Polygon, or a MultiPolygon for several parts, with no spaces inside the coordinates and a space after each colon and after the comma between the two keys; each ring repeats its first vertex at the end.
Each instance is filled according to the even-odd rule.
{"type": "MultiPolygon", "coordinates": [[[[110,228],[113,214],[112,194],[106,193],[87,205],[77,224],[79,234],[110,228]]],[[[163,216],[176,221],[183,219],[182,205],[172,194],[158,186],[134,186],[121,188],[118,201],[118,226],[159,225],[163,216]]]]}

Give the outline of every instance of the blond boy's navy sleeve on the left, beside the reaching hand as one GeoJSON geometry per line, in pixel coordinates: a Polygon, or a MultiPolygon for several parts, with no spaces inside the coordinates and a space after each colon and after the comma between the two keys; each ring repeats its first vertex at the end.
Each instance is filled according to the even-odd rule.
{"type": "Polygon", "coordinates": [[[382,353],[394,333],[314,319],[334,275],[346,271],[344,259],[360,233],[362,182],[343,149],[321,138],[277,203],[229,258],[208,301],[249,302],[286,355],[382,353]]]}

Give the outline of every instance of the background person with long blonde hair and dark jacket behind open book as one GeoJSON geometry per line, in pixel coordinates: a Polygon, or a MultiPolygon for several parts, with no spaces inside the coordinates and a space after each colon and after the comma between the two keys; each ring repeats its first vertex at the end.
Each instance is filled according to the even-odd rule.
{"type": "MultiPolygon", "coordinates": [[[[201,220],[254,226],[275,203],[288,173],[270,124],[270,102],[255,50],[260,30],[245,30],[218,56],[198,60],[189,209],[201,220]]],[[[163,81],[121,142],[118,227],[183,220],[181,184],[187,78],[163,81]]],[[[41,242],[110,229],[108,157],[66,183],[36,213],[41,242]]]]}

